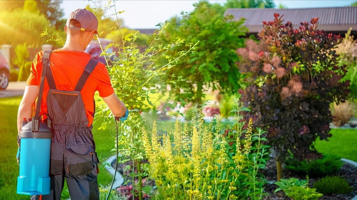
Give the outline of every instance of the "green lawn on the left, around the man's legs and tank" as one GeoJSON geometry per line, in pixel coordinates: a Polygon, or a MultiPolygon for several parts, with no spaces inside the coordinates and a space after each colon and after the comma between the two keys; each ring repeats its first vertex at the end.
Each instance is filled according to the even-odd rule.
{"type": "MultiPolygon", "coordinates": [[[[0,99],[0,199],[6,200],[21,200],[30,199],[26,195],[16,194],[17,176],[19,175],[19,165],[16,162],[16,115],[17,109],[21,101],[20,97],[2,98],[0,99]]],[[[96,142],[96,150],[102,162],[109,156],[114,155],[110,152],[114,148],[114,138],[107,130],[97,130],[101,121],[98,120],[93,127],[94,140],[96,142]]],[[[112,176],[106,171],[103,165],[99,165],[100,174],[98,175],[98,183],[101,185],[109,185],[112,176]]],[[[67,186],[62,192],[62,199],[69,198],[67,186]]]]}

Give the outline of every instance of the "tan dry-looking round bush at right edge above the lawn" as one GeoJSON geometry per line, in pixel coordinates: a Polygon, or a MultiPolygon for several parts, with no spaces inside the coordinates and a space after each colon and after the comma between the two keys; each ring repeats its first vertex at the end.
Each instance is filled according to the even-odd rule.
{"type": "Polygon", "coordinates": [[[330,106],[332,112],[333,120],[332,123],[335,126],[343,126],[351,117],[355,115],[356,104],[351,101],[346,101],[344,103],[336,104],[335,102],[330,106]]]}

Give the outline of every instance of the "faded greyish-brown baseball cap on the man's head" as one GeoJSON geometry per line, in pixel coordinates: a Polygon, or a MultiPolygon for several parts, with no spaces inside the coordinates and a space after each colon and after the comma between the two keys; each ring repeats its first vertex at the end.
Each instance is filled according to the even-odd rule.
{"type": "Polygon", "coordinates": [[[98,20],[95,15],[86,9],[77,9],[69,15],[67,19],[66,26],[69,28],[72,28],[74,30],[79,30],[79,31],[92,31],[95,30],[95,32],[98,34],[97,28],[98,28],[98,20]],[[75,19],[79,21],[81,24],[81,27],[73,26],[69,24],[69,21],[71,19],[75,19]]]}

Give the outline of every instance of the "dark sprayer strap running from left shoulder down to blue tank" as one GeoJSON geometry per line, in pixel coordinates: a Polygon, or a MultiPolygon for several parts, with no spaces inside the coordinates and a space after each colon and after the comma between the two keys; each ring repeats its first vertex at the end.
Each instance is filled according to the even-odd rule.
{"type": "Polygon", "coordinates": [[[32,120],[32,131],[38,131],[38,127],[39,127],[42,93],[44,90],[44,80],[45,80],[46,68],[50,65],[51,52],[52,51],[45,51],[42,56],[41,83],[40,83],[39,96],[37,97],[35,116],[34,119],[32,120]]]}

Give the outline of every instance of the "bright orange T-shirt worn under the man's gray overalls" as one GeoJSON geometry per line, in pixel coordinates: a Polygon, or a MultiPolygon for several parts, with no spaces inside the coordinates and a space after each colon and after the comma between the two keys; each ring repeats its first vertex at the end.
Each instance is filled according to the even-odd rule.
{"type": "MultiPolygon", "coordinates": [[[[42,74],[42,55],[42,51],[36,54],[36,58],[31,65],[31,73],[26,81],[26,85],[40,85],[42,74]]],[[[50,65],[57,90],[73,91],[90,58],[91,56],[85,52],[63,50],[52,51],[50,56],[50,65]]],[[[44,92],[41,102],[41,115],[48,113],[47,93],[49,89],[49,85],[45,79],[44,92]]],[[[108,70],[101,62],[98,62],[93,72],[89,75],[81,91],[84,108],[89,121],[88,126],[90,126],[93,122],[93,97],[95,91],[98,91],[99,96],[101,97],[106,97],[114,93],[114,89],[110,83],[108,70]]]]}

